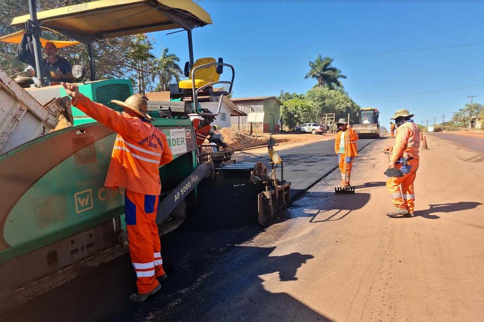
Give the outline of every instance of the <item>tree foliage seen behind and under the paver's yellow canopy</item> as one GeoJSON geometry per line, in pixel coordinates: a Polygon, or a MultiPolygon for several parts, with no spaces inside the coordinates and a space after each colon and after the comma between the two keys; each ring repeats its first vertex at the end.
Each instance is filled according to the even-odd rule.
{"type": "MultiPolygon", "coordinates": [[[[38,1],[40,7],[37,9],[44,11],[86,2],[89,0],[41,0],[38,1]]],[[[28,13],[27,0],[3,0],[2,6],[0,6],[0,35],[4,36],[19,31],[18,28],[11,27],[10,23],[14,17],[28,13]]],[[[42,31],[41,36],[46,39],[72,40],[46,31],[42,31]]],[[[143,92],[144,88],[154,90],[156,82],[162,83],[167,77],[160,72],[160,61],[154,59],[155,57],[151,53],[153,43],[146,35],[103,39],[94,42],[92,46],[97,79],[127,78],[132,81],[133,85],[138,85],[139,92],[143,92]]],[[[11,76],[22,74],[26,67],[24,63],[15,58],[16,52],[16,44],[0,43],[0,68],[11,76]]],[[[84,44],[61,48],[58,54],[67,58],[73,65],[84,66],[87,74],[90,74],[89,55],[87,46],[84,44]]],[[[179,61],[174,54],[168,52],[166,54],[170,56],[170,59],[179,61]]],[[[159,59],[162,60],[163,55],[159,59]]],[[[175,71],[176,66],[173,66],[171,79],[177,80],[174,76],[175,71]]],[[[159,88],[162,86],[160,85],[159,88]]]]}

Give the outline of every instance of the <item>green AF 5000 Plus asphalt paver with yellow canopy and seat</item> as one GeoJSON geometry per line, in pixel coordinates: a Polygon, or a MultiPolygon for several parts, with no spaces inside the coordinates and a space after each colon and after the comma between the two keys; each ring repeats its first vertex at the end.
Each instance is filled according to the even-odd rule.
{"type": "MultiPolygon", "coordinates": [[[[251,216],[251,223],[254,222],[252,219],[259,223],[266,221],[289,202],[290,183],[277,180],[274,173],[268,174],[267,169],[272,168],[273,163],[235,166],[234,162],[227,162],[229,157],[215,157],[222,162],[214,162],[212,155],[205,159],[199,157],[188,112],[195,110],[199,115],[217,115],[223,97],[231,92],[234,69],[213,58],[198,65],[194,62],[192,29],[212,23],[210,16],[197,4],[190,0],[101,0],[37,14],[32,10],[34,3],[29,0],[31,15],[15,18],[12,25],[22,28],[26,23],[30,24],[34,38],[39,36],[36,26],[42,25],[87,44],[91,82],[80,84],[81,92],[113,109],[117,106],[110,100],[124,101],[132,95],[131,84],[123,79],[96,81],[91,44],[98,39],[159,30],[182,28],[187,31],[190,62],[186,69],[191,86],[179,84],[173,87],[170,95],[173,101],[149,102],[148,113],[153,117],[154,125],[166,134],[174,154],[173,162],[160,168],[162,191],[157,213],[160,235],[178,227],[184,222],[190,205],[199,198],[212,198],[214,191],[234,199],[234,203],[225,202],[227,206],[247,205],[250,203],[248,198],[251,199],[247,213],[251,216]],[[219,81],[214,74],[197,73],[197,70],[212,68],[221,74],[224,66],[232,71],[229,81],[219,81]],[[199,75],[206,77],[199,79],[199,75]],[[216,84],[229,85],[229,90],[215,91],[213,86],[216,84]],[[193,106],[209,101],[219,102],[217,113],[193,109],[193,106]],[[199,189],[200,182],[207,177],[212,182],[205,180],[206,186],[199,189]],[[255,201],[258,198],[259,204],[255,201]]],[[[39,48],[36,54],[38,66],[39,48]]],[[[41,75],[40,70],[37,72],[41,75]]],[[[15,95],[20,87],[11,82],[7,85],[2,86],[4,92],[0,91],[0,97],[5,94],[9,100],[20,100],[15,95]]],[[[32,88],[28,93],[30,99],[34,97],[41,104],[65,96],[60,86],[32,88]]],[[[28,100],[18,106],[25,107],[28,100]]],[[[19,112],[12,113],[12,117],[21,115],[25,122],[19,124],[30,126],[32,113],[25,112],[29,109],[17,110],[19,112]]],[[[0,152],[0,187],[3,192],[0,195],[0,311],[128,250],[124,191],[103,186],[116,134],[92,122],[75,108],[72,114],[67,113],[65,106],[59,103],[54,112],[55,117],[59,114],[74,117],[76,126],[34,139],[26,138],[0,152]]],[[[39,124],[52,128],[52,116],[44,119],[46,121],[39,124]]],[[[16,133],[22,132],[20,127],[16,130],[16,133]]],[[[210,228],[216,229],[217,223],[223,223],[232,215],[226,209],[217,212],[197,208],[199,211],[195,217],[199,219],[195,223],[205,223],[210,228]],[[203,218],[213,214],[215,221],[213,217],[203,218]]],[[[220,210],[220,207],[216,206],[216,209],[220,210]]]]}

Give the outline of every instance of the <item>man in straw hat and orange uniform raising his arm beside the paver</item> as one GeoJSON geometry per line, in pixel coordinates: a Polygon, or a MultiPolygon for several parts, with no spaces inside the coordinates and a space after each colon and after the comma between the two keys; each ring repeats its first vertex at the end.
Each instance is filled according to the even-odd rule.
{"type": "Polygon", "coordinates": [[[157,278],[167,277],[155,219],[161,191],[159,167],[171,162],[173,154],[165,134],[151,124],[144,98],[133,95],[125,102],[112,100],[124,108],[118,113],[92,102],[79,93],[77,85],[62,85],[73,98],[73,106],[117,133],[104,186],[126,189],[128,243],[138,287],[130,300],[142,302],[160,289],[157,278]]]}

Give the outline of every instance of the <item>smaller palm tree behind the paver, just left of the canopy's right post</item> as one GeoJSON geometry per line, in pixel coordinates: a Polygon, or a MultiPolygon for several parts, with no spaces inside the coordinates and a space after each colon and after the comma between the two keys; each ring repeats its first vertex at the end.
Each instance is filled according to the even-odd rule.
{"type": "Polygon", "coordinates": [[[180,81],[181,68],[178,65],[180,58],[170,53],[168,48],[164,48],[160,58],[153,59],[153,81],[158,77],[157,88],[161,91],[168,91],[169,85],[175,79],[180,81]]]}

